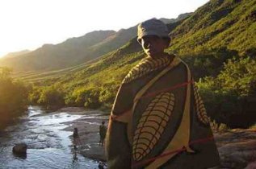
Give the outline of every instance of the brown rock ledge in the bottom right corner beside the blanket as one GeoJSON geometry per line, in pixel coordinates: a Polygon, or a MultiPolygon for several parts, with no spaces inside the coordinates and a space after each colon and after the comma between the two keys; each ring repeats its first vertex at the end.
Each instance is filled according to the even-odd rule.
{"type": "Polygon", "coordinates": [[[220,168],[254,168],[256,165],[256,132],[229,130],[215,134],[220,155],[220,168]]]}

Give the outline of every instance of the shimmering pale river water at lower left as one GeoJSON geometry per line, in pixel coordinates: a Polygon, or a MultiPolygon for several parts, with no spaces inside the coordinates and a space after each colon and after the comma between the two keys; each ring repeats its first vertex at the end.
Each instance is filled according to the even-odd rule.
{"type": "Polygon", "coordinates": [[[29,106],[18,124],[0,133],[0,168],[98,168],[98,162],[73,154],[69,139],[73,133],[62,130],[67,126],[62,122],[80,117],[68,112],[45,113],[39,106],[29,106]],[[27,156],[13,155],[12,147],[19,142],[27,143],[27,156]]]}

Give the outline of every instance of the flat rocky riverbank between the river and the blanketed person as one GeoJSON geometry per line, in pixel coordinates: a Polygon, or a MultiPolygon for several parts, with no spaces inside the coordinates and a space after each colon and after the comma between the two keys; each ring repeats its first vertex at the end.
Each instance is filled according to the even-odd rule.
{"type": "MultiPolygon", "coordinates": [[[[86,110],[85,112],[82,109],[66,109],[69,109],[69,111],[72,110],[71,113],[84,115],[78,120],[65,123],[68,125],[65,128],[67,131],[73,131],[74,127],[78,128],[78,134],[82,142],[82,146],[78,146],[78,153],[89,159],[106,161],[105,149],[99,145],[99,126],[103,121],[106,122],[105,125],[107,126],[108,115],[100,110],[86,110]]],[[[69,138],[73,141],[72,135],[69,138]]],[[[73,149],[73,146],[70,148],[73,149]]]]}

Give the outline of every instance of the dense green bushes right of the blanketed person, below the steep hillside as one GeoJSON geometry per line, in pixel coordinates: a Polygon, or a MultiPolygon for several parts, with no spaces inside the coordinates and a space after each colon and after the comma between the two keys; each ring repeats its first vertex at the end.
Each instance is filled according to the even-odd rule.
{"type": "Polygon", "coordinates": [[[246,105],[248,98],[256,98],[255,59],[230,59],[218,76],[206,76],[197,85],[208,114],[217,122],[253,125],[255,105],[254,109],[246,105]]]}

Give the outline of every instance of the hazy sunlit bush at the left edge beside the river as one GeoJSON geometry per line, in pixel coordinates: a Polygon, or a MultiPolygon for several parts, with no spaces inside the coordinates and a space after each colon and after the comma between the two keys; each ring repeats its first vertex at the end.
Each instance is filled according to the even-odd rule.
{"type": "Polygon", "coordinates": [[[0,68],[0,129],[27,109],[27,88],[10,77],[10,69],[0,68]]]}

